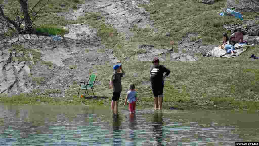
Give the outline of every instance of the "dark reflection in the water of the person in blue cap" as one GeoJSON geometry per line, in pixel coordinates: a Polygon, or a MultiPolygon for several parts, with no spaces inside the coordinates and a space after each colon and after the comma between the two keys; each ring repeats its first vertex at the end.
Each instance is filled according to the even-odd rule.
{"type": "Polygon", "coordinates": [[[113,145],[121,145],[121,117],[113,114],[113,145]]]}

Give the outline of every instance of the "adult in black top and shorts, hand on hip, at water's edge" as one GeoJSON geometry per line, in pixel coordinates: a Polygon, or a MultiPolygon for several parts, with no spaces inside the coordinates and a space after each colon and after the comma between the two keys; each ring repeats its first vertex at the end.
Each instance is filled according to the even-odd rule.
{"type": "Polygon", "coordinates": [[[154,109],[162,109],[164,78],[168,76],[171,71],[163,65],[159,65],[159,58],[157,57],[153,59],[152,63],[153,67],[150,70],[150,82],[154,94],[154,109]],[[164,72],[166,72],[165,75],[164,72]]]}

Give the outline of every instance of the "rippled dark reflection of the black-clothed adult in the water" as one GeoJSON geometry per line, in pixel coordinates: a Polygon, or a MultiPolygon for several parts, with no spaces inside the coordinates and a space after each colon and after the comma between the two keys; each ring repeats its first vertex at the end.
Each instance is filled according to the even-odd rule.
{"type": "Polygon", "coordinates": [[[163,112],[154,111],[154,115],[152,117],[152,126],[153,126],[153,137],[158,146],[166,145],[164,143],[163,136],[163,112]]]}

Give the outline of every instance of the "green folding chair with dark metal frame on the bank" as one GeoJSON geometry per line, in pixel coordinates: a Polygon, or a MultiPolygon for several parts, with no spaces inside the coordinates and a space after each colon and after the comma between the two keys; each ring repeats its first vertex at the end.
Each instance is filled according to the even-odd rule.
{"type": "MultiPolygon", "coordinates": [[[[87,92],[89,97],[95,97],[94,93],[93,93],[93,96],[89,95],[87,90],[91,89],[93,92],[93,85],[95,84],[96,78],[97,78],[97,76],[95,74],[91,74],[87,82],[80,82],[80,87],[79,87],[77,96],[79,95],[80,90],[85,90],[85,93],[87,92]]],[[[84,97],[85,97],[85,93],[84,93],[84,97]]]]}

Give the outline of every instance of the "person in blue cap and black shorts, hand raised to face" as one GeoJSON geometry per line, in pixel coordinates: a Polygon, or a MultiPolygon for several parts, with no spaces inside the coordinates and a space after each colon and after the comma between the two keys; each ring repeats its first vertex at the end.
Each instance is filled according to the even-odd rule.
{"type": "Polygon", "coordinates": [[[116,65],[113,65],[113,74],[110,79],[110,89],[112,88],[112,112],[114,113],[114,105],[115,105],[115,113],[118,113],[118,104],[119,104],[119,98],[121,93],[121,77],[125,75],[124,70],[122,69],[121,63],[118,63],[116,65]]]}

